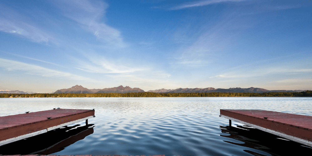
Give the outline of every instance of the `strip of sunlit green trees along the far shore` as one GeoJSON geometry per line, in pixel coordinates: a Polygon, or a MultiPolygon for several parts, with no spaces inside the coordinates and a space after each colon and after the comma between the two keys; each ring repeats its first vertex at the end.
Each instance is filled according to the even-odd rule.
{"type": "Polygon", "coordinates": [[[0,98],[17,97],[312,97],[312,91],[269,93],[94,93],[94,94],[0,94],[0,98]]]}

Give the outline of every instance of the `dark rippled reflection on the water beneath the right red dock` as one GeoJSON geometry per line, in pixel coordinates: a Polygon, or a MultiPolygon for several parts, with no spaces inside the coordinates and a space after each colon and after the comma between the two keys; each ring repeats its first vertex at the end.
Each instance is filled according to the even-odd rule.
{"type": "Polygon", "coordinates": [[[220,126],[222,133],[227,133],[230,135],[220,135],[222,137],[231,138],[235,140],[239,140],[243,143],[237,143],[237,141],[227,141],[230,139],[224,139],[224,142],[239,145],[241,149],[246,153],[252,155],[259,155],[264,156],[271,154],[271,155],[304,155],[305,153],[311,153],[312,148],[301,146],[303,144],[296,143],[294,141],[287,141],[280,138],[277,135],[270,134],[259,129],[254,129],[249,126],[240,126],[236,125],[230,126],[220,126]],[[260,150],[263,152],[257,153],[256,150],[260,150]]]}

